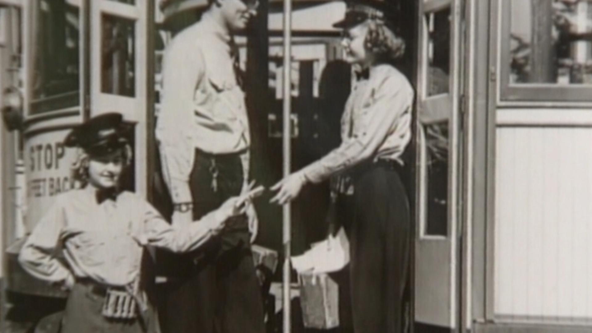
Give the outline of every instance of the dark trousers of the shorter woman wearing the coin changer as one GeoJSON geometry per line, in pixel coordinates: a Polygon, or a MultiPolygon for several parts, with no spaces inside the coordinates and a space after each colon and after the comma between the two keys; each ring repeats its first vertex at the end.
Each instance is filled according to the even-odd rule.
{"type": "Polygon", "coordinates": [[[102,315],[105,295],[91,284],[76,283],[66,302],[61,333],[152,333],[156,332],[153,316],[139,319],[107,319],[102,315]]]}

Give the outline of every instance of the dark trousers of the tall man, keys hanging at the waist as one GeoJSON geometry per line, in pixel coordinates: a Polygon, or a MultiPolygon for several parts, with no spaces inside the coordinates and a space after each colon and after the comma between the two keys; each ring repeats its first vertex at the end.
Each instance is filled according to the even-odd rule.
{"type": "MultiPolygon", "coordinates": [[[[237,196],[243,184],[239,155],[195,152],[190,185],[194,220],[237,196]]],[[[176,257],[185,276],[173,278],[159,309],[165,333],[263,333],[263,303],[245,216],[227,222],[203,248],[176,257]]]]}

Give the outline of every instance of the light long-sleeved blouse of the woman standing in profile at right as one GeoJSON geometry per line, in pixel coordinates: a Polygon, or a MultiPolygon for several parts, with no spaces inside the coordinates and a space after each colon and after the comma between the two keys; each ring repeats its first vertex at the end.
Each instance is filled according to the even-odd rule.
{"type": "Polygon", "coordinates": [[[304,177],[321,182],[330,175],[372,159],[397,161],[411,140],[414,92],[391,65],[374,66],[353,87],[341,121],[342,144],[305,167],[304,177]]]}

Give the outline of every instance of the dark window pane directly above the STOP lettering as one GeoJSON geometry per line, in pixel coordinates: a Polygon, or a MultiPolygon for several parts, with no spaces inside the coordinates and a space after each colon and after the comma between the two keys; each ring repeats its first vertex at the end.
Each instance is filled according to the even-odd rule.
{"type": "MultiPolygon", "coordinates": [[[[69,96],[71,92],[78,96],[78,8],[64,0],[38,0],[34,4],[34,17],[33,99],[69,96]]],[[[66,100],[78,103],[72,97],[66,100]]],[[[69,105],[55,105],[65,106],[69,105]]]]}

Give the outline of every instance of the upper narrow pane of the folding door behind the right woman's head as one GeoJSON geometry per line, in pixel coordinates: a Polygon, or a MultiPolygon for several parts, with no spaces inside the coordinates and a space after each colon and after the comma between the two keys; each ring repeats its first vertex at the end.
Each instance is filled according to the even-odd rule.
{"type": "Polygon", "coordinates": [[[427,95],[450,92],[450,8],[426,14],[427,95]]]}

